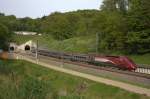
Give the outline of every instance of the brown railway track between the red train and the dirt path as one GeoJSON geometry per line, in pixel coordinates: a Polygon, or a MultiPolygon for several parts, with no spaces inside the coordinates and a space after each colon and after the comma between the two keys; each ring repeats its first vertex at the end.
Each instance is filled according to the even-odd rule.
{"type": "MultiPolygon", "coordinates": [[[[29,55],[32,57],[35,57],[35,54],[33,53],[19,53],[22,55],[29,55]]],[[[40,55],[43,56],[43,55],[40,55]]],[[[49,57],[46,56],[45,57],[49,57]]],[[[57,62],[62,62],[61,59],[57,59],[57,58],[52,58],[50,57],[51,60],[53,61],[57,61],[57,62]]],[[[116,72],[116,73],[120,73],[120,74],[126,74],[126,75],[130,75],[130,76],[136,76],[136,77],[141,77],[141,78],[147,78],[150,79],[150,68],[146,68],[146,67],[138,67],[137,70],[135,71],[123,71],[123,70],[119,70],[117,68],[110,68],[110,67],[106,67],[106,66],[95,66],[95,65],[91,65],[88,63],[83,63],[83,62],[73,62],[73,61],[68,61],[68,60],[63,60],[63,63],[69,63],[69,64],[75,64],[75,65],[79,65],[79,66],[83,66],[83,67],[87,67],[87,68],[93,68],[93,69],[99,69],[99,70],[105,70],[105,71],[109,71],[109,72],[116,72]]]]}

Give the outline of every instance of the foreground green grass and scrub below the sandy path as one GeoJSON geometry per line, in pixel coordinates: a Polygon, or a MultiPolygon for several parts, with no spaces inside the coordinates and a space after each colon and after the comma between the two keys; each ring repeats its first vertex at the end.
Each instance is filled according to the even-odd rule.
{"type": "Polygon", "coordinates": [[[0,61],[0,99],[149,99],[26,61],[0,61]]]}

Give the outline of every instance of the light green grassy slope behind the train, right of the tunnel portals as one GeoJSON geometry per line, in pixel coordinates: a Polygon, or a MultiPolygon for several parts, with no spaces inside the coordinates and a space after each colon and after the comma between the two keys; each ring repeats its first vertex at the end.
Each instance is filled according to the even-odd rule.
{"type": "Polygon", "coordinates": [[[65,51],[65,52],[77,52],[77,53],[87,53],[95,51],[95,41],[93,37],[76,37],[63,41],[54,40],[50,35],[42,36],[21,36],[14,35],[14,41],[18,44],[25,43],[29,40],[39,41],[39,45],[48,48],[50,50],[65,51]]]}

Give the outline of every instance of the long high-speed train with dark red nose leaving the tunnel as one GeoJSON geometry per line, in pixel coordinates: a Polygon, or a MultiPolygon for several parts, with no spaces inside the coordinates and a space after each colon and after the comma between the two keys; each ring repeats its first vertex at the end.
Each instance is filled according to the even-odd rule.
{"type": "MultiPolygon", "coordinates": [[[[35,53],[35,50],[32,51],[35,53]]],[[[105,56],[95,54],[74,54],[62,53],[48,50],[38,50],[39,55],[64,59],[68,61],[84,62],[97,66],[111,66],[122,70],[133,71],[137,69],[137,65],[126,56],[105,56]]]]}

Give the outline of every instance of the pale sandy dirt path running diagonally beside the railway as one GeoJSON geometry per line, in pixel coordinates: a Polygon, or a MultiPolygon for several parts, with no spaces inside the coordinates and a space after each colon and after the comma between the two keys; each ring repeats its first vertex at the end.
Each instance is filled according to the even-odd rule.
{"type": "Polygon", "coordinates": [[[27,56],[21,56],[21,55],[16,56],[15,55],[15,57],[17,59],[23,59],[23,60],[26,60],[26,61],[29,61],[29,62],[32,62],[32,63],[39,64],[39,65],[44,66],[44,67],[48,67],[48,68],[56,70],[56,71],[64,72],[64,73],[71,74],[71,75],[78,76],[78,77],[82,77],[82,78],[86,78],[86,79],[96,81],[96,82],[99,82],[99,83],[104,83],[104,84],[107,84],[107,85],[119,87],[121,89],[130,91],[130,92],[134,92],[134,93],[138,93],[138,94],[145,94],[145,95],[150,97],[150,89],[146,89],[146,88],[142,88],[142,87],[139,87],[139,86],[135,86],[135,85],[119,82],[119,81],[109,80],[109,79],[93,76],[93,75],[90,75],[90,74],[85,74],[85,73],[65,69],[63,67],[50,65],[48,63],[44,63],[44,62],[41,62],[41,61],[37,62],[35,60],[35,58],[31,58],[31,57],[27,57],[27,56]]]}

